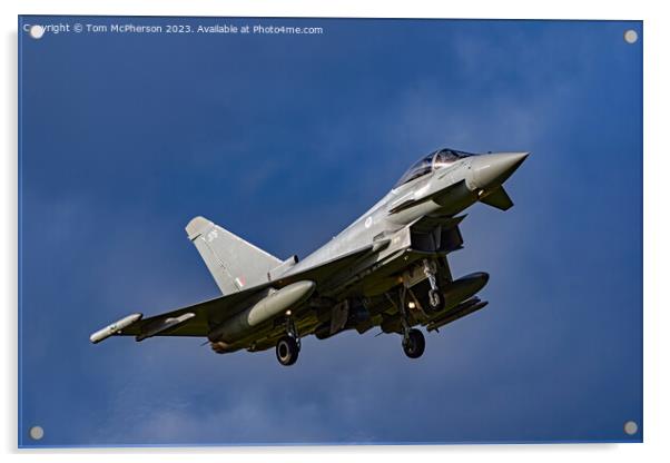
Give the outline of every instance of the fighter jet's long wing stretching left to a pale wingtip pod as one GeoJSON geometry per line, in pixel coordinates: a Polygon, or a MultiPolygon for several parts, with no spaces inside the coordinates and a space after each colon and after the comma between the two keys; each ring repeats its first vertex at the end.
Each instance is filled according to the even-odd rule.
{"type": "Polygon", "coordinates": [[[318,288],[319,282],[324,282],[333,274],[346,268],[368,253],[374,252],[375,246],[378,246],[378,244],[365,246],[344,256],[294,274],[283,275],[275,280],[262,285],[149,318],[142,318],[141,314],[132,314],[93,333],[90,339],[92,343],[98,343],[109,336],[116,335],[136,336],[137,341],[152,336],[205,337],[211,327],[259,301],[269,287],[278,289],[292,283],[312,280],[316,283],[316,287],[318,288]]]}

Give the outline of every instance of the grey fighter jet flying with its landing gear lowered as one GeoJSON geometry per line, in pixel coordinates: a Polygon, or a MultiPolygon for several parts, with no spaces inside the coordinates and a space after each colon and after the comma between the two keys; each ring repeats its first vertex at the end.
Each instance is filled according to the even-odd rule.
{"type": "Polygon", "coordinates": [[[144,318],[135,313],[93,333],[110,336],[206,337],[219,354],[275,347],[293,365],[300,339],[326,339],[374,327],[401,336],[420,357],[423,333],[485,307],[476,296],[484,272],[453,278],[450,253],[463,247],[462,213],[480,201],[508,210],[503,189],[529,152],[474,155],[440,149],[422,157],[377,204],[303,260],[285,260],[204,217],[186,226],[223,295],[144,318]]]}

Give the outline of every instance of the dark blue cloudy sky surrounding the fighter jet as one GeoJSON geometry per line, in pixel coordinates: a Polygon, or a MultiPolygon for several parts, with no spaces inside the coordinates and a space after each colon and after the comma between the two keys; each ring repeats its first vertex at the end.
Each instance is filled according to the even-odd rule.
{"type": "Polygon", "coordinates": [[[640,441],[641,22],[179,22],[324,33],[20,35],[21,445],[640,441]],[[306,338],[292,368],[89,343],[217,296],[193,216],[305,256],[444,146],[532,156],[451,257],[491,274],[489,307],[421,359],[376,331],[306,338]]]}

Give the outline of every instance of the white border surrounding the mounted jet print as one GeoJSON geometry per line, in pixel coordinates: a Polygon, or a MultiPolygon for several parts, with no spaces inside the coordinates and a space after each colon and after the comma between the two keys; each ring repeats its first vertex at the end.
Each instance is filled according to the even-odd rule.
{"type": "Polygon", "coordinates": [[[1,358],[4,420],[1,422],[2,450],[14,459],[39,459],[45,453],[56,461],[115,461],[119,454],[134,455],[146,461],[181,461],[186,455],[195,461],[230,459],[255,461],[258,456],[294,462],[341,461],[353,457],[368,461],[383,455],[392,461],[406,460],[416,453],[428,461],[445,457],[499,462],[561,462],[572,457],[593,461],[627,462],[638,459],[668,457],[670,426],[668,413],[668,352],[670,336],[669,311],[663,284],[670,273],[664,265],[668,258],[668,188],[666,174],[669,167],[666,132],[668,131],[667,83],[670,43],[668,18],[661,2],[563,0],[551,4],[521,0],[441,3],[424,0],[407,1],[338,1],[321,4],[306,0],[118,0],[91,3],[90,1],[24,0],[2,2],[2,92],[4,108],[1,136],[3,176],[0,207],[2,224],[0,243],[4,265],[1,267],[0,294],[6,296],[2,311],[1,358]],[[563,445],[452,445],[452,446],[336,446],[336,447],[207,447],[207,449],[119,449],[119,450],[17,450],[17,16],[18,14],[122,14],[122,16],[245,16],[245,17],[385,17],[385,18],[502,18],[502,19],[631,19],[643,20],[644,45],[644,444],[563,444],[563,445]],[[216,456],[215,456],[216,455],[216,456]],[[349,456],[351,455],[351,456],[349,456]]]}

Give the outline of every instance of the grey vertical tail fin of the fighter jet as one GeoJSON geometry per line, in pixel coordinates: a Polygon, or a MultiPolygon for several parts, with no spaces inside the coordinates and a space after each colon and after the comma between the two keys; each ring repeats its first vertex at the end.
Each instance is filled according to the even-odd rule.
{"type": "Polygon", "coordinates": [[[205,217],[193,218],[186,233],[224,294],[267,282],[269,270],[282,264],[275,256],[205,217]]]}

